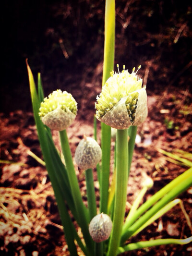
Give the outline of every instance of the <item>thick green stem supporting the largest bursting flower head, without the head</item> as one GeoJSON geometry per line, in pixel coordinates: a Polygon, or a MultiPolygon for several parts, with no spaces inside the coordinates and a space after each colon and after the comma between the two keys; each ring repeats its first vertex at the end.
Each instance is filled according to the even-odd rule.
{"type": "Polygon", "coordinates": [[[127,130],[117,131],[117,174],[114,203],[113,229],[109,242],[108,256],[116,256],[124,220],[128,183],[127,130]]]}

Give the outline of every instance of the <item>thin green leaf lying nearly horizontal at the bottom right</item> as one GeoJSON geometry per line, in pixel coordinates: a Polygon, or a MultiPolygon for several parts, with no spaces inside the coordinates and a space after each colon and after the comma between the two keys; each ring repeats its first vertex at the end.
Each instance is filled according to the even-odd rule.
{"type": "Polygon", "coordinates": [[[164,245],[164,244],[189,244],[192,242],[192,236],[185,238],[185,239],[173,239],[173,238],[166,238],[166,239],[156,239],[156,240],[150,240],[150,241],[141,241],[133,244],[127,244],[123,247],[118,248],[118,254],[137,250],[145,247],[152,247],[152,246],[158,246],[158,245],[164,245]]]}

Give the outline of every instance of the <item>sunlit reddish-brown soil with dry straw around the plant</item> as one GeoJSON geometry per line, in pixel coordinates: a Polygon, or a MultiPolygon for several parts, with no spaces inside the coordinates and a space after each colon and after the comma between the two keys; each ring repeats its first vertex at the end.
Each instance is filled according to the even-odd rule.
{"type": "MultiPolygon", "coordinates": [[[[182,90],[164,91],[161,95],[149,92],[149,115],[142,127],[138,127],[142,142],[135,146],[128,185],[129,203],[132,203],[138,195],[146,175],[152,177],[154,187],[147,192],[144,200],[186,170],[185,167],[166,161],[157,149],[171,151],[180,148],[192,152],[191,114],[188,112],[192,107],[189,105],[190,97],[189,92],[182,90]],[[185,110],[185,106],[188,106],[188,109],[184,114],[181,110],[185,110]],[[173,121],[171,129],[166,127],[165,120],[173,121]],[[147,140],[149,142],[151,140],[149,145],[147,140]]],[[[20,110],[11,112],[9,116],[1,114],[0,127],[1,159],[18,163],[1,165],[0,250],[2,255],[67,255],[60,217],[47,171],[29,155],[31,150],[41,157],[32,113],[20,110]]],[[[92,123],[77,116],[77,120],[68,129],[72,154],[84,133],[93,136],[92,123]]],[[[58,145],[58,134],[54,132],[53,136],[58,145]]],[[[77,175],[86,202],[84,173],[77,175]]],[[[192,218],[191,195],[190,189],[180,195],[190,218],[192,218]]],[[[185,238],[190,235],[190,229],[180,207],[174,207],[164,217],[132,238],[132,242],[151,238],[185,238]],[[162,228],[160,228],[161,224],[162,228]]],[[[167,245],[139,250],[127,255],[191,255],[191,249],[189,244],[167,245]]]]}

